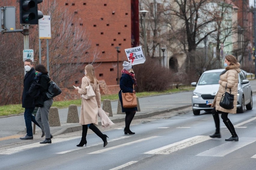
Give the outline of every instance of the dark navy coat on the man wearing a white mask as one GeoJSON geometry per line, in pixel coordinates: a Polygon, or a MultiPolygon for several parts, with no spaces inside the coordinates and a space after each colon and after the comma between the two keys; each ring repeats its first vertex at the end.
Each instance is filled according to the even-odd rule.
{"type": "Polygon", "coordinates": [[[24,77],[24,83],[23,83],[23,93],[22,93],[22,107],[28,108],[28,107],[35,107],[33,104],[33,98],[31,98],[28,94],[29,87],[31,86],[32,82],[34,81],[35,77],[35,69],[32,67],[29,72],[26,73],[24,77]]]}

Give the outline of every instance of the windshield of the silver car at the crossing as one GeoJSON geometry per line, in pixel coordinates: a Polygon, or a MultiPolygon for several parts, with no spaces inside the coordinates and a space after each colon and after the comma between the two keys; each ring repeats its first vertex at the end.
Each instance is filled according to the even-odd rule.
{"type": "Polygon", "coordinates": [[[203,73],[197,85],[219,84],[221,72],[203,73]]]}

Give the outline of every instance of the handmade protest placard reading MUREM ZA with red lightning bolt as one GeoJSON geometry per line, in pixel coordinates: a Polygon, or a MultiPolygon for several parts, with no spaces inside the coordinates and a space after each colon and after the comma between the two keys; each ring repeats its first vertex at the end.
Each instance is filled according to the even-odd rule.
{"type": "Polygon", "coordinates": [[[128,48],[128,49],[124,49],[124,50],[125,50],[125,54],[128,58],[128,61],[132,65],[145,63],[146,58],[143,54],[142,46],[128,48]]]}

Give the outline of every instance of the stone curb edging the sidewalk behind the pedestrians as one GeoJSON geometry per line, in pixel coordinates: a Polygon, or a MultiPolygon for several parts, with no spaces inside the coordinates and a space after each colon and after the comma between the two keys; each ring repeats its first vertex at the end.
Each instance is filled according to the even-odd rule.
{"type": "MultiPolygon", "coordinates": [[[[158,110],[158,111],[154,111],[154,112],[138,114],[138,115],[135,115],[133,119],[147,118],[147,117],[159,115],[161,113],[166,113],[166,112],[171,112],[171,111],[174,111],[174,110],[176,111],[176,110],[180,110],[180,109],[185,109],[187,107],[191,107],[191,104],[186,105],[186,106],[172,108],[172,109],[164,109],[164,110],[158,110]]],[[[111,121],[113,123],[120,123],[120,122],[124,122],[124,120],[125,120],[125,118],[117,118],[117,119],[112,119],[111,121]]],[[[98,122],[98,123],[99,123],[99,125],[101,125],[101,122],[98,122]]],[[[82,130],[81,125],[77,125],[77,126],[73,126],[73,127],[69,127],[69,128],[62,128],[62,129],[58,130],[57,132],[53,133],[53,136],[62,135],[62,134],[65,134],[65,133],[77,132],[79,130],[82,130]]]]}

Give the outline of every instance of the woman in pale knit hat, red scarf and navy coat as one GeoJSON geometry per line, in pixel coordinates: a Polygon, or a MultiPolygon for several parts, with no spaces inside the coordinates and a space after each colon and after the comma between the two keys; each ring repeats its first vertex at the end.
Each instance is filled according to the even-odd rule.
{"type": "Polygon", "coordinates": [[[124,134],[135,134],[134,132],[132,132],[130,130],[130,124],[133,120],[133,117],[137,111],[137,107],[133,107],[133,108],[124,108],[123,107],[123,101],[122,101],[122,93],[136,93],[136,91],[133,89],[133,85],[134,87],[137,87],[137,82],[136,82],[136,78],[135,78],[135,74],[134,71],[132,69],[132,65],[127,62],[124,61],[123,62],[123,69],[121,71],[122,76],[120,78],[120,91],[119,91],[119,99],[121,102],[121,107],[122,107],[122,112],[125,112],[126,116],[125,116],[125,128],[124,128],[124,134]]]}

